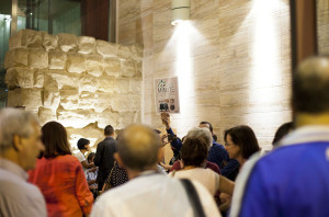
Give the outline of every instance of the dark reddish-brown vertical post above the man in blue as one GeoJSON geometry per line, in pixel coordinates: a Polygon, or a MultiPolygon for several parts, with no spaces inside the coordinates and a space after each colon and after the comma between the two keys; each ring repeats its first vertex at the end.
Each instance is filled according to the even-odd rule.
{"type": "Polygon", "coordinates": [[[291,0],[292,68],[317,54],[316,0],[291,0]]]}

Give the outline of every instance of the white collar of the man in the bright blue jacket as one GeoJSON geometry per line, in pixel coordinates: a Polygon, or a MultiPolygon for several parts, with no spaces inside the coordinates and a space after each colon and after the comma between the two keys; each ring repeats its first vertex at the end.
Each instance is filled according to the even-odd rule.
{"type": "Polygon", "coordinates": [[[329,141],[329,126],[309,125],[297,128],[284,137],[279,145],[288,146],[310,141],[329,141]]]}

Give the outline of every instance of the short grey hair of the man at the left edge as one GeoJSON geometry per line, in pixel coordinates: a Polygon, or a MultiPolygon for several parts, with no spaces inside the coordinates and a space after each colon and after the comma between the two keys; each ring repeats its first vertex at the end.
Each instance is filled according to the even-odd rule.
{"type": "Polygon", "coordinates": [[[21,108],[0,110],[0,149],[13,145],[13,136],[29,137],[33,133],[31,123],[38,124],[35,115],[21,108]]]}

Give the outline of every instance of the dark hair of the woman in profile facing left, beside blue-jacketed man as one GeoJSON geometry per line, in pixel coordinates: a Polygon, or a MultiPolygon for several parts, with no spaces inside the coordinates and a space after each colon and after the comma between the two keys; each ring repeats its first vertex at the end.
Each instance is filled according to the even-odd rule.
{"type": "Polygon", "coordinates": [[[231,137],[235,145],[240,147],[243,159],[250,158],[250,156],[260,150],[253,130],[247,125],[240,125],[225,130],[225,142],[227,141],[227,135],[231,137]]]}

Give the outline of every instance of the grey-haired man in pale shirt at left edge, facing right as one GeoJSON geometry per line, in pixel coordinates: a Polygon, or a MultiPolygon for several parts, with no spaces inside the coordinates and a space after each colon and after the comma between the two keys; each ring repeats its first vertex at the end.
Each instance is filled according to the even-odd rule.
{"type": "Polygon", "coordinates": [[[0,216],[47,216],[39,190],[27,183],[44,150],[38,121],[23,110],[0,111],[0,216]]]}

